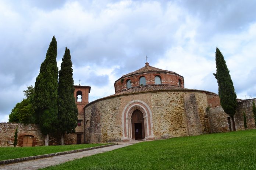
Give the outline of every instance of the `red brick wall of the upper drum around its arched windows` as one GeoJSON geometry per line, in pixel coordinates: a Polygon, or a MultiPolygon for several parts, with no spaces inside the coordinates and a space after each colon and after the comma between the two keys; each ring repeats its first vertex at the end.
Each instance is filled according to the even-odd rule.
{"type": "Polygon", "coordinates": [[[181,80],[181,87],[184,87],[184,79],[183,77],[179,76],[178,74],[171,74],[171,73],[143,73],[143,74],[135,74],[130,75],[128,77],[123,78],[115,82],[115,93],[120,92],[121,90],[127,89],[127,81],[131,80],[132,87],[140,86],[139,78],[144,76],[146,78],[146,85],[154,85],[155,84],[155,77],[159,76],[161,78],[162,84],[174,85],[179,86],[179,79],[181,80]]]}

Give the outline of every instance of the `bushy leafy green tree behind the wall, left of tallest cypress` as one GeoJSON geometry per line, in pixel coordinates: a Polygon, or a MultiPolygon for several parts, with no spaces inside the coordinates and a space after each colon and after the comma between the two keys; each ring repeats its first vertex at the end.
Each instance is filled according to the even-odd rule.
{"type": "Polygon", "coordinates": [[[35,112],[32,107],[34,88],[33,86],[27,88],[28,90],[23,91],[26,98],[15,105],[9,115],[9,122],[35,123],[35,112]]]}

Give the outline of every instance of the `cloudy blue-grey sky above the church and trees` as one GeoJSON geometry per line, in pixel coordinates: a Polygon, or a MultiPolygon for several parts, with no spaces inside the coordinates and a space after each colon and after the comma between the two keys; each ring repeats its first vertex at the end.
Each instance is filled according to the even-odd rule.
{"type": "Polygon", "coordinates": [[[90,101],[145,66],[184,76],[185,88],[218,93],[215,51],[224,55],[238,98],[256,97],[256,1],[0,0],[0,122],[35,85],[51,38],[60,68],[71,51],[75,85],[90,101]]]}

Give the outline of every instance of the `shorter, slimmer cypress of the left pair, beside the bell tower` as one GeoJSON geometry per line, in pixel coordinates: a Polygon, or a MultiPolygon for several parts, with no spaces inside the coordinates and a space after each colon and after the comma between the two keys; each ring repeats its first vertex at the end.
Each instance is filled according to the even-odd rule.
{"type": "Polygon", "coordinates": [[[58,80],[58,132],[61,133],[61,145],[64,145],[65,133],[74,133],[77,127],[77,105],[74,97],[73,69],[70,50],[66,47],[59,71],[58,80]]]}

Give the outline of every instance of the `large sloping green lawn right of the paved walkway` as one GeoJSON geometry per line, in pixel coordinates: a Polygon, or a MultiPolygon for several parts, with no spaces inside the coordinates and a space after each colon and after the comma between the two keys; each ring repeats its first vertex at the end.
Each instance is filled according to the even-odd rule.
{"type": "Polygon", "coordinates": [[[256,169],[256,130],[142,142],[46,169],[256,169]]]}

